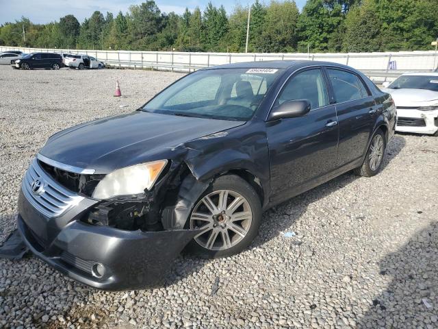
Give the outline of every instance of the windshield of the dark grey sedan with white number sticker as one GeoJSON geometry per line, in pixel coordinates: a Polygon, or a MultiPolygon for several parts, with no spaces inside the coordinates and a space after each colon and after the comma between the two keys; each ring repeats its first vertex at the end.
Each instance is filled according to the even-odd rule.
{"type": "Polygon", "coordinates": [[[280,69],[213,69],[175,82],[142,108],[146,112],[247,121],[280,69]]]}

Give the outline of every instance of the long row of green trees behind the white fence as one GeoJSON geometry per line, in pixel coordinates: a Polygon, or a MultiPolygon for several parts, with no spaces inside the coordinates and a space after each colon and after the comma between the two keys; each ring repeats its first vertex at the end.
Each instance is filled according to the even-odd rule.
{"type": "MultiPolygon", "coordinates": [[[[73,15],[34,24],[22,17],[0,25],[0,45],[60,49],[243,52],[248,7],[231,14],[211,2],[183,14],[159,10],[153,0],[127,13],[73,15]],[[23,31],[25,40],[23,40],[23,31]]],[[[437,0],[256,0],[250,6],[250,52],[359,52],[431,49],[438,36],[437,0]]]]}

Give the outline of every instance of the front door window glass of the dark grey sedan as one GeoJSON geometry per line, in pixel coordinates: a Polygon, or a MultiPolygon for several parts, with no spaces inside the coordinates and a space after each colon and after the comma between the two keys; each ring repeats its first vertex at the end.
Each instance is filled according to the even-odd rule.
{"type": "Polygon", "coordinates": [[[321,69],[307,70],[292,77],[281,90],[275,106],[296,99],[307,99],[311,110],[329,105],[329,97],[321,69]]]}

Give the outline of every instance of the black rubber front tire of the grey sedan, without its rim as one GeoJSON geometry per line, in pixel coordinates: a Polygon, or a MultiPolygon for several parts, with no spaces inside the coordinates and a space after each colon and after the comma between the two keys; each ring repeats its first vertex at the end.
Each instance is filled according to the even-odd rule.
{"type": "MultiPolygon", "coordinates": [[[[248,182],[237,175],[224,175],[214,180],[214,182],[211,183],[203,195],[201,195],[198,201],[196,201],[194,208],[196,208],[196,204],[198,204],[203,197],[209,195],[210,193],[214,193],[214,191],[221,190],[229,190],[238,193],[242,195],[244,199],[246,199],[252,212],[250,226],[246,232],[246,235],[237,244],[229,247],[229,249],[211,250],[203,247],[195,240],[190,241],[186,247],[186,251],[194,256],[201,258],[221,258],[238,254],[242,252],[242,250],[246,249],[248,245],[250,245],[259,232],[262,215],[259,195],[257,195],[257,193],[254,191],[254,188],[250,186],[248,182]]],[[[194,208],[192,209],[192,212],[194,208]]],[[[190,212],[190,217],[188,219],[188,228],[190,228],[190,218],[192,216],[192,212],[190,212]]]]}

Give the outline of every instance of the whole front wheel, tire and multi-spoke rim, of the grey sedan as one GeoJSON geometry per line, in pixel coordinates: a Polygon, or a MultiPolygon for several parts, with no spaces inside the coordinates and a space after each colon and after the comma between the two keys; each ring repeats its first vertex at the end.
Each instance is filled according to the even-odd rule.
{"type": "Polygon", "coordinates": [[[217,178],[192,209],[189,226],[201,230],[188,250],[203,258],[242,252],[257,236],[261,222],[259,196],[236,175],[217,178]]]}

